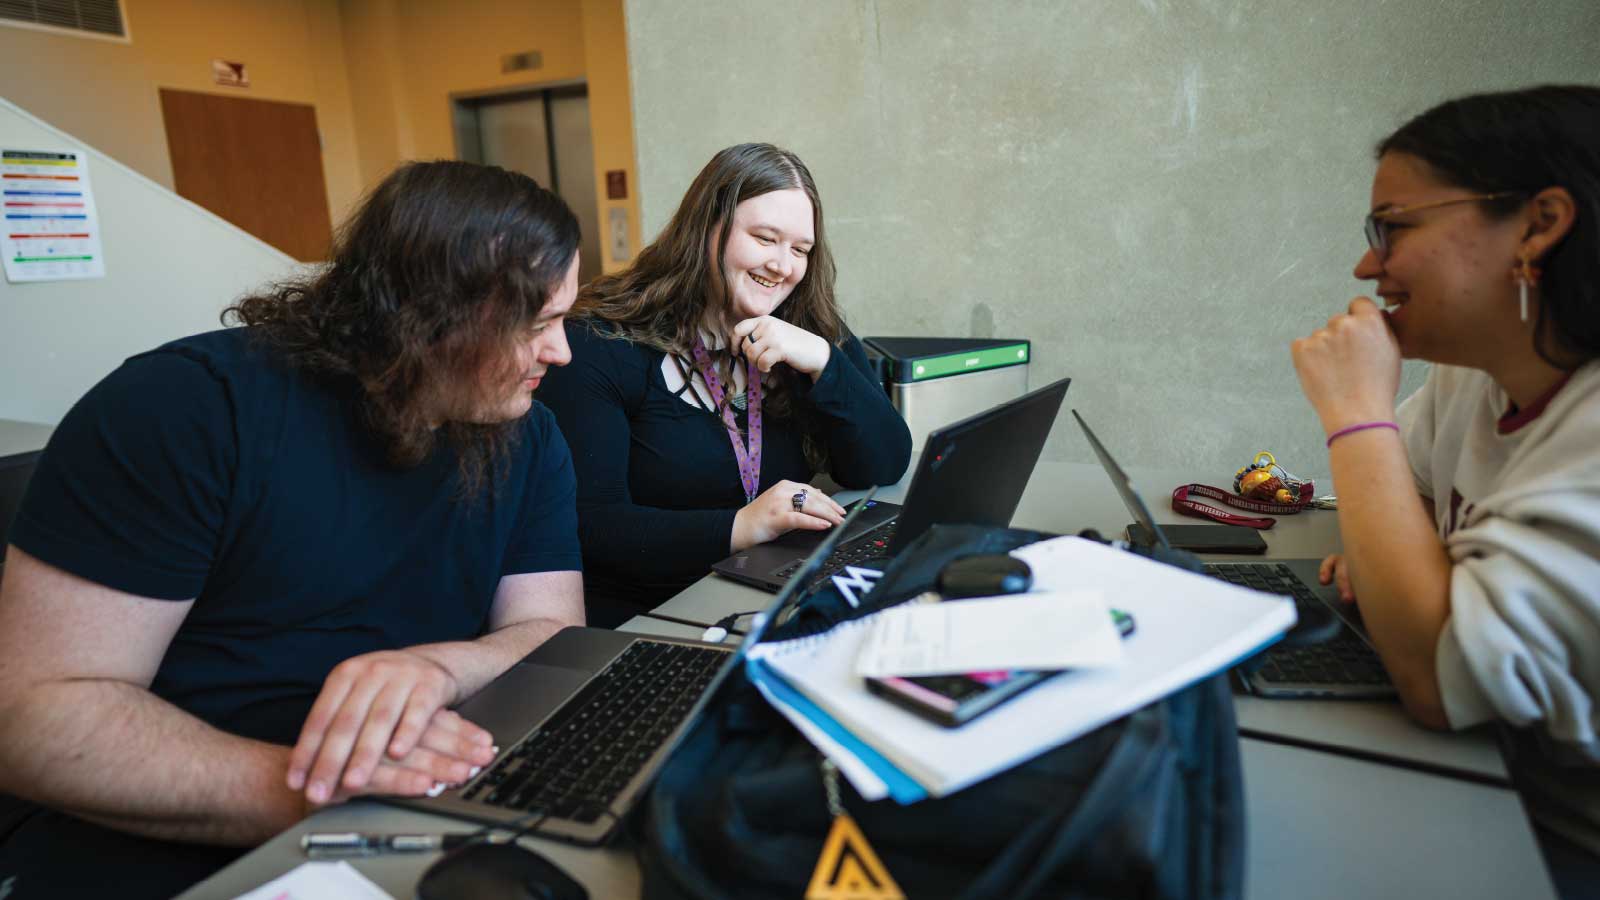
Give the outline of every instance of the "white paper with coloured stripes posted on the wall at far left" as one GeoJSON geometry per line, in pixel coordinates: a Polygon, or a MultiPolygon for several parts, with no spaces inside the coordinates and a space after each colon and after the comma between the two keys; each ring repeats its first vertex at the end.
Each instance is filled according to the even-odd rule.
{"type": "Polygon", "coordinates": [[[0,149],[0,255],[10,282],[104,279],[83,149],[0,149]]]}

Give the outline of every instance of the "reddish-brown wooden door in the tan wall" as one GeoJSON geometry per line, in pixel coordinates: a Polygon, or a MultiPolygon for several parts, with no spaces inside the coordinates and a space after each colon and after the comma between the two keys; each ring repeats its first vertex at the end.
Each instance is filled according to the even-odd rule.
{"type": "Polygon", "coordinates": [[[317,110],[162,88],[178,194],[302,261],[333,232],[317,110]]]}

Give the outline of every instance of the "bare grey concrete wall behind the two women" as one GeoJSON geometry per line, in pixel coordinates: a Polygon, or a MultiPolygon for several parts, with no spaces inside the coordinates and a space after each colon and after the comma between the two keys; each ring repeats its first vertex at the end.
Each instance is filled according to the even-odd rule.
{"type": "Polygon", "coordinates": [[[1032,338],[1123,463],[1218,484],[1326,471],[1288,343],[1365,290],[1373,143],[1600,82],[1594,0],[629,0],[627,37],[646,239],[717,149],[787,146],[859,333],[1032,338]]]}

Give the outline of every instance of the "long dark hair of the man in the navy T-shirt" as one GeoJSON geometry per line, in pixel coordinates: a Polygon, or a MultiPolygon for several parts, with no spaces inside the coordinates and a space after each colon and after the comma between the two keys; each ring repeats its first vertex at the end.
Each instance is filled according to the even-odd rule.
{"type": "Polygon", "coordinates": [[[360,415],[392,464],[421,463],[438,440],[453,445],[472,495],[518,429],[454,421],[450,410],[470,408],[482,373],[510,365],[518,331],[566,275],[578,240],[566,203],[525,175],[413,162],[362,202],[325,269],[234,303],[222,322],[248,325],[302,372],[354,380],[360,415]]]}

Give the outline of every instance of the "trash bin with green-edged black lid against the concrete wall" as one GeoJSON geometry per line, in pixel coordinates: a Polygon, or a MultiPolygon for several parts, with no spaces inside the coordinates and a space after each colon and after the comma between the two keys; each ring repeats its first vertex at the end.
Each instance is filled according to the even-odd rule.
{"type": "Polygon", "coordinates": [[[862,338],[883,389],[910,428],[928,432],[1027,392],[1029,341],[1006,338],[862,338]]]}

